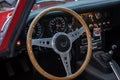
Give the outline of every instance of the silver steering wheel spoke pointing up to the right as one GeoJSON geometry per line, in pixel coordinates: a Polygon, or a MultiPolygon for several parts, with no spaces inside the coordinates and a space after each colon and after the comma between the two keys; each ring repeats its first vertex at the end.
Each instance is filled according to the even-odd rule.
{"type": "Polygon", "coordinates": [[[85,29],[81,27],[80,29],[76,29],[73,32],[68,33],[68,36],[73,43],[75,40],[77,40],[83,33],[85,32],[85,29]]]}

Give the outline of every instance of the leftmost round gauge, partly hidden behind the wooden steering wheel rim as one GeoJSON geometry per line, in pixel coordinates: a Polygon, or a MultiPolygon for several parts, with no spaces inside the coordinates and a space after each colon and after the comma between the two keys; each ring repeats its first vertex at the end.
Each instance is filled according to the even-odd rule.
{"type": "MultiPolygon", "coordinates": [[[[27,36],[28,29],[29,29],[29,25],[28,25],[28,27],[25,27],[25,35],[26,35],[26,36],[27,36]]],[[[33,31],[32,37],[33,37],[34,39],[37,39],[37,38],[42,37],[42,35],[43,35],[42,26],[40,25],[40,23],[37,23],[37,25],[36,25],[36,27],[35,27],[35,29],[34,29],[34,31],[33,31]]]]}

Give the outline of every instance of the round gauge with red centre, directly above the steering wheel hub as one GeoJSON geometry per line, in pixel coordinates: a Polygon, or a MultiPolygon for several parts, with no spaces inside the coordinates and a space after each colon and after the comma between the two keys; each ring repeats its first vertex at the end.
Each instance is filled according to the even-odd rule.
{"type": "Polygon", "coordinates": [[[50,31],[52,33],[65,32],[67,30],[63,17],[56,17],[49,22],[50,31]]]}

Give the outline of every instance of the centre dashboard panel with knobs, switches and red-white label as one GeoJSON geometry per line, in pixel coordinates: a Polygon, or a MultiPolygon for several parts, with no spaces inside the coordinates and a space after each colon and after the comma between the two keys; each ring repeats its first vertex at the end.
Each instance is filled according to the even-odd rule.
{"type": "MultiPolygon", "coordinates": [[[[104,32],[111,29],[110,14],[108,12],[91,12],[80,15],[87,23],[91,32],[93,51],[102,50],[104,48],[104,32]]],[[[86,53],[86,34],[82,35],[80,50],[81,53],[86,53]]]]}

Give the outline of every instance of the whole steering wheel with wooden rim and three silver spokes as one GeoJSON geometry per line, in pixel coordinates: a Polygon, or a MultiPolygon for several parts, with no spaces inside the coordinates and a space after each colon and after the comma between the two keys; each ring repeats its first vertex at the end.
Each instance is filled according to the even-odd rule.
{"type": "Polygon", "coordinates": [[[91,35],[90,35],[90,31],[88,29],[87,24],[85,23],[83,18],[79,14],[77,14],[75,11],[68,8],[64,8],[64,7],[51,7],[39,13],[34,18],[34,20],[32,21],[29,27],[26,43],[27,43],[27,51],[28,51],[29,58],[33,66],[35,67],[35,69],[44,77],[52,80],[71,80],[77,77],[85,70],[92,55],[92,41],[91,41],[91,35]],[[58,10],[71,14],[82,24],[83,27],[76,29],[75,31],[72,31],[70,33],[57,32],[51,38],[32,39],[32,34],[34,31],[35,25],[38,23],[38,21],[48,12],[58,11],[58,10]],[[69,53],[70,53],[70,50],[72,49],[72,43],[76,41],[84,32],[86,32],[87,42],[88,42],[87,55],[82,66],[75,73],[72,74],[69,53]],[[67,75],[65,77],[57,77],[43,70],[42,67],[38,64],[34,56],[32,45],[52,48],[60,56],[67,75]]]}

